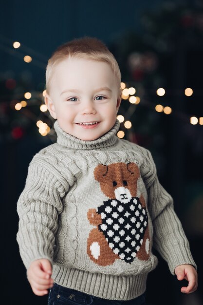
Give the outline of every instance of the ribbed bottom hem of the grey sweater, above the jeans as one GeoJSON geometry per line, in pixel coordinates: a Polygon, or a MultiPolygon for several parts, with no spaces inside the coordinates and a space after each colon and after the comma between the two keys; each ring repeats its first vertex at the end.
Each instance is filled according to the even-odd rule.
{"type": "Polygon", "coordinates": [[[55,283],[108,300],[131,300],[146,290],[148,273],[110,275],[54,265],[55,283]]]}

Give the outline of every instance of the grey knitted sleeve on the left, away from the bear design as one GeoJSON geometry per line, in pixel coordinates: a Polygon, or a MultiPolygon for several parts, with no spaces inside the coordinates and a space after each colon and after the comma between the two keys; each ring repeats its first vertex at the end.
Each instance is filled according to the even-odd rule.
{"type": "Polygon", "coordinates": [[[25,188],[18,199],[17,241],[26,268],[40,258],[53,262],[55,232],[58,215],[63,210],[61,199],[65,189],[62,175],[51,168],[50,165],[43,166],[34,157],[28,168],[25,188]]]}

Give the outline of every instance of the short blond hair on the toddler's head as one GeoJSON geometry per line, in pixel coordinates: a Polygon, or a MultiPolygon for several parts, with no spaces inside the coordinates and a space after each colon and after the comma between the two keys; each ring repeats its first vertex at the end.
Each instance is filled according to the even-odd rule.
{"type": "Polygon", "coordinates": [[[68,57],[107,62],[114,73],[118,94],[120,95],[121,72],[115,57],[101,40],[87,36],[75,38],[60,45],[48,60],[46,68],[46,91],[48,95],[50,95],[52,76],[56,65],[68,57]]]}

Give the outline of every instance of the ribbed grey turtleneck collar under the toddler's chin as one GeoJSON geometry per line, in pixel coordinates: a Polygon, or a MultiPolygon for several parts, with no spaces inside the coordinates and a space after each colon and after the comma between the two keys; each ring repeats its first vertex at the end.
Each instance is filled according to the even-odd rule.
{"type": "Polygon", "coordinates": [[[77,150],[91,150],[114,145],[118,140],[116,133],[120,127],[120,122],[116,119],[114,126],[108,133],[105,133],[100,138],[93,141],[83,141],[76,138],[74,135],[66,133],[59,126],[58,121],[54,123],[55,132],[57,134],[57,143],[67,148],[77,150]]]}

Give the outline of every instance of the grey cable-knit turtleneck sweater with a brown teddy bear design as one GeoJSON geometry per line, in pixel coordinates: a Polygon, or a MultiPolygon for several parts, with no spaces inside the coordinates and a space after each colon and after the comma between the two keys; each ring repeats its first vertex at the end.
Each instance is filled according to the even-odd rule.
{"type": "Polygon", "coordinates": [[[196,265],[151,153],[118,129],[83,141],[55,121],[57,143],[34,156],[18,199],[17,241],[26,268],[47,258],[55,283],[130,300],[157,265],[152,245],[172,274],[196,265]]]}

